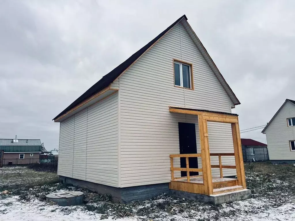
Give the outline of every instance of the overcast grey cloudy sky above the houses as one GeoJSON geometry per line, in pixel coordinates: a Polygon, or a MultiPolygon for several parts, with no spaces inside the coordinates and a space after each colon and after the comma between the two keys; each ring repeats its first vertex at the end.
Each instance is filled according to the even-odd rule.
{"type": "MultiPolygon", "coordinates": [[[[295,100],[295,1],[0,2],[0,138],[58,148],[52,119],[183,14],[242,103],[240,129],[295,100]]],[[[262,129],[242,138],[266,142],[262,129]]]]}

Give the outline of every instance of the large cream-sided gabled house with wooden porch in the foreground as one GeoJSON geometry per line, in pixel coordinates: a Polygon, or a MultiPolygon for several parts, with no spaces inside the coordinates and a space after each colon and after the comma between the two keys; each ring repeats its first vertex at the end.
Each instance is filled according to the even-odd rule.
{"type": "Polygon", "coordinates": [[[216,193],[212,182],[223,176],[237,175],[245,189],[238,120],[231,113],[238,104],[184,15],[53,119],[60,122],[58,175],[122,202],[167,192],[188,166],[195,168],[189,175],[203,174],[199,193],[216,193]],[[179,154],[195,158],[173,161],[179,154]],[[179,167],[174,174],[172,163],[179,167]]]}

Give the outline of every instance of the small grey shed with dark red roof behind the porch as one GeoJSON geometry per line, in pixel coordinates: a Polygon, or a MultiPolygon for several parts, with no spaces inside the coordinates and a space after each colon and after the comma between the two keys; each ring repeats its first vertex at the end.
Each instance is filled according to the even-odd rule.
{"type": "Polygon", "coordinates": [[[269,160],[267,144],[260,143],[252,139],[241,138],[243,160],[265,161],[269,160]]]}

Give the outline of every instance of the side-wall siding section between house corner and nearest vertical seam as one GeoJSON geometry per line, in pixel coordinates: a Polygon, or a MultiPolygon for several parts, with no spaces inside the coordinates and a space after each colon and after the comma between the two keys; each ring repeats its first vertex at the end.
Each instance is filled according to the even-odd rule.
{"type": "Polygon", "coordinates": [[[118,93],[88,108],[86,181],[118,186],[118,93]]]}

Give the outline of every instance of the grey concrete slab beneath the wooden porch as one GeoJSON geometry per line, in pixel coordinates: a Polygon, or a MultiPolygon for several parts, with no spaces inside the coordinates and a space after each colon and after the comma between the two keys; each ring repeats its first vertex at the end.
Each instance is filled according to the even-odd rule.
{"type": "Polygon", "coordinates": [[[214,194],[210,196],[203,195],[203,194],[190,193],[190,192],[185,192],[180,190],[173,190],[173,189],[170,189],[169,193],[173,197],[196,200],[199,202],[213,203],[213,204],[229,203],[229,202],[233,202],[237,200],[251,198],[250,189],[242,189],[242,190],[237,190],[233,192],[214,194]]]}

